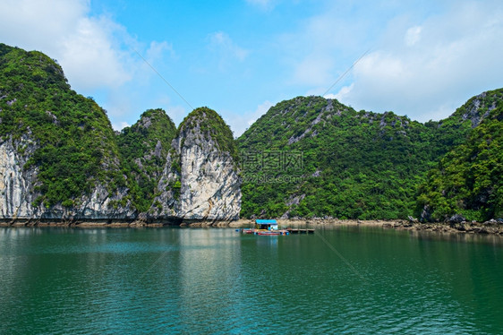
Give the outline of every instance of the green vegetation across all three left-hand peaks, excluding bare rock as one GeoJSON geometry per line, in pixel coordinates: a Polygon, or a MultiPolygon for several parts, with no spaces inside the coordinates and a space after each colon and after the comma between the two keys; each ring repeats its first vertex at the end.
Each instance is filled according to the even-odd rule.
{"type": "Polygon", "coordinates": [[[207,107],[192,111],[178,131],[164,110],[149,109],[115,134],[106,111],[71,90],[55,60],[0,44],[0,143],[12,140],[26,155],[23,168],[33,168],[32,191],[40,194],[34,206],[72,207],[103,185],[107,193],[120,191],[110,205],[149,210],[172,140],[191,127],[201,146],[213,141],[237,157],[230,128],[207,107]]]}

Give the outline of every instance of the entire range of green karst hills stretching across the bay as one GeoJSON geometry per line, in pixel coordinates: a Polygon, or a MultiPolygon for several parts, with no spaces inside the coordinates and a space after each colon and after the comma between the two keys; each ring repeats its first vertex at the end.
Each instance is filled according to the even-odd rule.
{"type": "Polygon", "coordinates": [[[428,123],[297,97],[237,139],[209,107],[178,127],[149,109],[117,133],[50,57],[0,56],[4,225],[503,217],[502,89],[428,123]]]}

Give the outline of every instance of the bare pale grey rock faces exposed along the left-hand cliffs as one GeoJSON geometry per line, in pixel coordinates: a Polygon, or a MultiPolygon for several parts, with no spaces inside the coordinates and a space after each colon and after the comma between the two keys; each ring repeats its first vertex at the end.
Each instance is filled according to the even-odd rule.
{"type": "MultiPolygon", "coordinates": [[[[96,181],[92,192],[72,199],[65,207],[46,207],[38,200],[38,168],[30,157],[38,150],[28,131],[20,139],[0,142],[0,220],[232,220],[241,210],[241,178],[232,155],[222,150],[208,131],[197,122],[180,129],[172,142],[158,183],[158,196],[148,213],[139,214],[128,200],[128,188],[110,192],[106,182],[96,181]]],[[[223,121],[222,121],[223,123],[223,121]]],[[[230,130],[229,130],[230,132],[230,130]]],[[[232,140],[232,138],[231,138],[232,140]]],[[[159,145],[146,155],[160,154],[159,145]]],[[[108,168],[118,168],[114,161],[108,168]]]]}

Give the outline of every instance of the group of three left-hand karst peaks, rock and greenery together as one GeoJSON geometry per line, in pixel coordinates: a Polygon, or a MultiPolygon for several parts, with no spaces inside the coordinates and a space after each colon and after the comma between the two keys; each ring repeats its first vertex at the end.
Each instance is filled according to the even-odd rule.
{"type": "Polygon", "coordinates": [[[149,109],[115,134],[54,60],[0,43],[2,222],[237,219],[236,152],[209,108],[178,131],[164,110],[149,109]]]}

